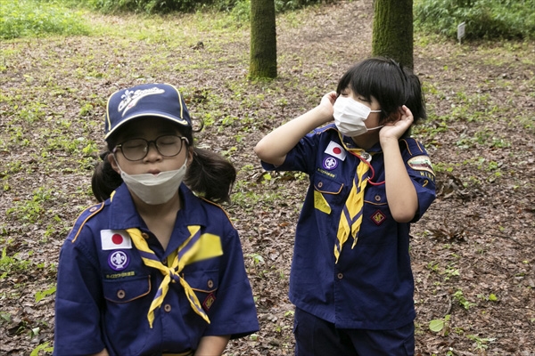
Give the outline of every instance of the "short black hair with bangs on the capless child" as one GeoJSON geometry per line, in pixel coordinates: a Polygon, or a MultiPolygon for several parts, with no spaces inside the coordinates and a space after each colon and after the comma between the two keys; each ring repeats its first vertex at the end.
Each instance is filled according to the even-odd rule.
{"type": "MultiPolygon", "coordinates": [[[[346,88],[366,100],[374,96],[379,101],[382,110],[380,125],[402,105],[412,111],[413,125],[426,118],[420,80],[410,69],[389,58],[374,57],[355,64],[338,82],[336,93],[340,95],[346,88]]],[[[408,134],[407,130],[404,136],[408,134]]]]}

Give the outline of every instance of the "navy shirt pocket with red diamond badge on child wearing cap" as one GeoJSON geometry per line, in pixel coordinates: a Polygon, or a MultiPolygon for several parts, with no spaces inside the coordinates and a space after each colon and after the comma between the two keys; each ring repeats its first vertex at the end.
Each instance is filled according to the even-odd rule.
{"type": "Polygon", "coordinates": [[[217,299],[219,271],[189,271],[185,272],[182,278],[193,289],[197,299],[199,299],[199,303],[202,305],[202,309],[205,312],[209,312],[217,299]]]}

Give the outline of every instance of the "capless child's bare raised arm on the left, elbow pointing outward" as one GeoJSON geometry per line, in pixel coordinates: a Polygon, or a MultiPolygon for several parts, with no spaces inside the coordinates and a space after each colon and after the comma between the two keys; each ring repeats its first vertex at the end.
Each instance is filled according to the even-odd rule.
{"type": "Polygon", "coordinates": [[[260,140],[254,148],[257,156],[274,166],[284,163],[286,154],[310,131],[333,120],[336,92],[326,93],[316,108],[277,127],[260,140]]]}

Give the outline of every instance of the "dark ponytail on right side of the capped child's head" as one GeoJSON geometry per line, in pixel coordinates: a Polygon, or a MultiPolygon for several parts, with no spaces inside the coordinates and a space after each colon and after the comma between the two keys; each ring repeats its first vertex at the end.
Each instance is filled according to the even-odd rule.
{"type": "Polygon", "coordinates": [[[193,149],[193,162],[184,180],[190,190],[214,203],[230,203],[235,180],[235,167],[226,158],[211,150],[193,149]]]}

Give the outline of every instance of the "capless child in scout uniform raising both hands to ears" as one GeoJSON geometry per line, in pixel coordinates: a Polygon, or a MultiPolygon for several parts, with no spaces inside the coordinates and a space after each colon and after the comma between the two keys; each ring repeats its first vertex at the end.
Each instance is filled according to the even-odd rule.
{"type": "Polygon", "coordinates": [[[296,355],[414,354],[409,229],[435,198],[430,159],[409,138],[424,117],[416,75],[371,58],[255,147],[265,169],[310,179],[290,275],[296,355]]]}

